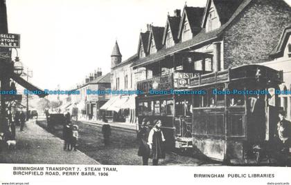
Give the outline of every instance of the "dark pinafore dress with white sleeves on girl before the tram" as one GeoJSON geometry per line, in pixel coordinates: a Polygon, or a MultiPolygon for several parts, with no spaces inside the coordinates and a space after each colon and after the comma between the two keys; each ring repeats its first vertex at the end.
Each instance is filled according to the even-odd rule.
{"type": "Polygon", "coordinates": [[[160,129],[152,128],[148,137],[148,142],[152,144],[152,152],[150,158],[152,159],[165,159],[164,135],[160,129]]]}

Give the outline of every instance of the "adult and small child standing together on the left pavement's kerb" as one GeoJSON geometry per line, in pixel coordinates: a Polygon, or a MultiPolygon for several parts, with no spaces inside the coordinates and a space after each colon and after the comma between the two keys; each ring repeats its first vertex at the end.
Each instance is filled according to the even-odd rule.
{"type": "Polygon", "coordinates": [[[64,139],[64,150],[77,150],[77,142],[78,142],[78,126],[71,124],[71,115],[67,113],[65,115],[66,123],[64,124],[62,130],[62,137],[64,139]]]}

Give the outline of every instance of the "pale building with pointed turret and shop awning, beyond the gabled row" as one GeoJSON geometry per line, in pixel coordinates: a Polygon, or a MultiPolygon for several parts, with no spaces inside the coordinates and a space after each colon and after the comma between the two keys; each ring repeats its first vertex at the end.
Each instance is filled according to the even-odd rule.
{"type": "Polygon", "coordinates": [[[137,59],[137,55],[122,61],[122,55],[116,41],[111,55],[111,88],[123,91],[121,94],[112,94],[107,104],[101,109],[110,110],[113,113],[113,121],[135,123],[135,97],[126,91],[136,90],[135,72],[131,65],[137,59]]]}

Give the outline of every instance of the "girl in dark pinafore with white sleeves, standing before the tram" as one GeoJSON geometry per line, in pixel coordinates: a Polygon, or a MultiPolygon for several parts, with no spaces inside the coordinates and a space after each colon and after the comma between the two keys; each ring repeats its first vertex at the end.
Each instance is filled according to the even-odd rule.
{"type": "Polygon", "coordinates": [[[152,152],[150,157],[152,158],[152,165],[157,166],[159,159],[165,159],[164,143],[166,140],[164,134],[161,131],[161,120],[154,121],[155,126],[150,130],[148,135],[148,145],[152,152]]]}

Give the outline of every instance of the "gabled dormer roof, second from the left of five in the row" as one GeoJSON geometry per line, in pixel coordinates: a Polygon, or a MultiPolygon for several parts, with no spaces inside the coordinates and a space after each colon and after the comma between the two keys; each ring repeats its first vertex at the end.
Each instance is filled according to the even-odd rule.
{"type": "Polygon", "coordinates": [[[149,36],[149,44],[148,44],[148,52],[150,51],[150,43],[152,41],[152,37],[155,41],[155,46],[157,50],[160,50],[163,47],[163,35],[164,35],[164,27],[158,27],[158,26],[151,26],[150,29],[150,36],[149,36]]]}

